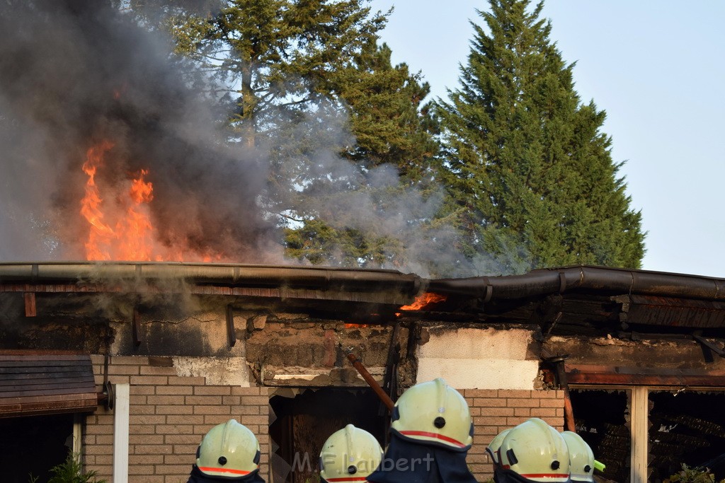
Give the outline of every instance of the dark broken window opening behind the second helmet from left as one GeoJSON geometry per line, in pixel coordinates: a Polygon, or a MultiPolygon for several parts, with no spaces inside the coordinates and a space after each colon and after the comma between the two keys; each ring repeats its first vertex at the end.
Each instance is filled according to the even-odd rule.
{"type": "Polygon", "coordinates": [[[273,396],[270,406],[272,483],[318,481],[320,450],[327,438],[347,424],[365,429],[384,445],[388,416],[371,390],[323,388],[294,398],[273,396]]]}

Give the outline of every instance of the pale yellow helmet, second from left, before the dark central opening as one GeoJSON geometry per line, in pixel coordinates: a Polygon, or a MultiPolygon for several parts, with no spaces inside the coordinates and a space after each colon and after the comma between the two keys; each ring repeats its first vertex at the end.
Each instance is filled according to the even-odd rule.
{"type": "Polygon", "coordinates": [[[320,478],[325,482],[366,481],[383,459],[383,448],[365,429],[348,424],[327,438],[320,451],[320,478]]]}

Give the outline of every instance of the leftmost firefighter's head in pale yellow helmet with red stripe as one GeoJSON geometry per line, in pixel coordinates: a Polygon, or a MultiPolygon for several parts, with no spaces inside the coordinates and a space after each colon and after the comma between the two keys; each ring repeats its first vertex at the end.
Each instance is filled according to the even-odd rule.
{"type": "Polygon", "coordinates": [[[254,433],[230,419],[204,436],[187,483],[264,483],[260,476],[261,454],[254,433]]]}

